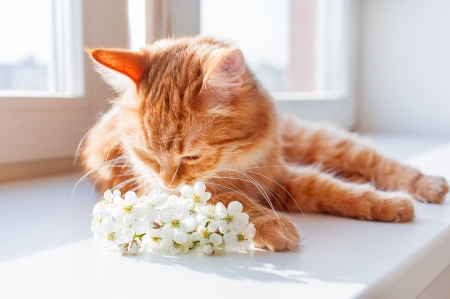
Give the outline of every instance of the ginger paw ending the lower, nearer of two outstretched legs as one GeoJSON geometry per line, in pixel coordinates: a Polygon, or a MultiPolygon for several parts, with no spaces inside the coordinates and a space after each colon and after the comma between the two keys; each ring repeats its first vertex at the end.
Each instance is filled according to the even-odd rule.
{"type": "Polygon", "coordinates": [[[414,218],[413,199],[406,193],[389,192],[372,203],[372,219],[383,222],[405,222],[414,218]]]}

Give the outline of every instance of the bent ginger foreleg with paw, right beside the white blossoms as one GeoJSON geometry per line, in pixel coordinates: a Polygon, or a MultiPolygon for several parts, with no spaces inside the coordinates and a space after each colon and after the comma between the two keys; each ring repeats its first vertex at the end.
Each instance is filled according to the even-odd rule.
{"type": "Polygon", "coordinates": [[[219,193],[211,198],[212,203],[222,202],[225,206],[236,200],[243,205],[243,211],[255,225],[253,242],[257,247],[270,251],[295,250],[298,247],[300,235],[286,216],[261,206],[238,192],[219,193]]]}

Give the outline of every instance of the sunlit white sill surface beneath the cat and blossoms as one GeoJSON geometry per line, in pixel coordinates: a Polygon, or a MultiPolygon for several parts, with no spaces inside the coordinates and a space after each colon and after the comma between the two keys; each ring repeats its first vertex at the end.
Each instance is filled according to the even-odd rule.
{"type": "MultiPolygon", "coordinates": [[[[406,162],[450,179],[450,144],[406,162]]],[[[120,256],[92,237],[91,184],[71,199],[79,177],[0,185],[0,298],[414,298],[450,265],[449,197],[408,223],[291,215],[295,252],[120,256]]]]}

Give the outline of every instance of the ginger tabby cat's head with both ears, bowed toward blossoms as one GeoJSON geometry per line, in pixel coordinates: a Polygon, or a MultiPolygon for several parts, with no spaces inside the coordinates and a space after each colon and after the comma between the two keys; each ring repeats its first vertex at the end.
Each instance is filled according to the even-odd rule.
{"type": "Polygon", "coordinates": [[[273,148],[272,102],[232,45],[200,36],[89,53],[119,94],[118,143],[137,176],[176,190],[273,148]]]}

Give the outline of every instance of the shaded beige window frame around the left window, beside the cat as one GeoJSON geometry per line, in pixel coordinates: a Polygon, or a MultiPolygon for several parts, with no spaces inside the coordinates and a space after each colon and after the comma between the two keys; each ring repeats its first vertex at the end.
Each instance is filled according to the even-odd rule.
{"type": "MultiPolygon", "coordinates": [[[[126,1],[67,2],[72,6],[72,26],[79,30],[74,37],[82,40],[82,46],[127,47],[126,1]]],[[[109,107],[107,99],[112,95],[82,52],[75,62],[83,70],[83,82],[78,86],[84,85],[84,93],[56,97],[39,92],[0,95],[0,137],[4,144],[0,147],[0,169],[30,161],[73,160],[77,145],[96,115],[109,107]]]]}

